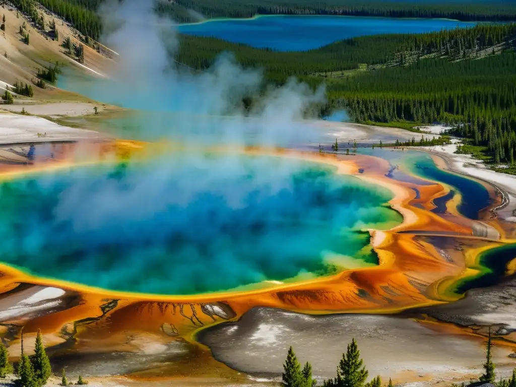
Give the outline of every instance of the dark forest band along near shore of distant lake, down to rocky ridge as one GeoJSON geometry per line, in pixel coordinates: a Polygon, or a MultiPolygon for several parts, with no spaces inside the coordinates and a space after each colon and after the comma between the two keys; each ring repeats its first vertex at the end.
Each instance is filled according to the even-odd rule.
{"type": "MultiPolygon", "coordinates": [[[[181,35],[175,60],[194,69],[207,69],[222,52],[234,53],[245,67],[264,69],[266,77],[282,83],[289,76],[306,77],[358,69],[367,65],[408,65],[429,54],[451,60],[477,57],[477,53],[516,39],[516,24],[480,24],[427,34],[364,36],[338,41],[316,50],[277,52],[255,49],[216,38],[181,35]],[[406,58],[406,63],[399,63],[406,58]],[[409,60],[409,58],[411,60],[409,60]]],[[[335,74],[333,74],[335,75],[335,74]]],[[[336,74],[340,75],[340,74],[336,74]]]]}

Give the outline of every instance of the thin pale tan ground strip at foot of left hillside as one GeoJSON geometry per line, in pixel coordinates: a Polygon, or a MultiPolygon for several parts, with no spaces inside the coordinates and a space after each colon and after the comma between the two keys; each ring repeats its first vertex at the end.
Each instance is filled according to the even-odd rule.
{"type": "MultiPolygon", "coordinates": [[[[0,110],[21,112],[25,109],[28,114],[36,116],[89,116],[94,114],[95,107],[99,114],[104,111],[106,105],[88,102],[57,102],[57,103],[31,103],[29,100],[17,101],[13,105],[0,105],[0,110]]],[[[2,117],[0,117],[1,119],[2,117]]]]}

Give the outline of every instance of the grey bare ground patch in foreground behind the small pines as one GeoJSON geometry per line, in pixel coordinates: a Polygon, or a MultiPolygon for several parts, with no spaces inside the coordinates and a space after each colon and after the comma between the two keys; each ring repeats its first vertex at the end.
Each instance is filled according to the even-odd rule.
{"type": "MultiPolygon", "coordinates": [[[[202,334],[215,358],[251,375],[276,380],[292,345],[301,362],[309,361],[318,379],[335,376],[347,343],[356,338],[369,376],[394,382],[432,382],[481,373],[482,340],[428,329],[410,318],[387,315],[308,316],[278,309],[255,308],[234,324],[202,334]],[[413,374],[413,375],[412,375],[413,374]],[[412,375],[412,376],[411,376],[412,375]]],[[[508,375],[511,350],[496,347],[499,375],[508,375]]]]}

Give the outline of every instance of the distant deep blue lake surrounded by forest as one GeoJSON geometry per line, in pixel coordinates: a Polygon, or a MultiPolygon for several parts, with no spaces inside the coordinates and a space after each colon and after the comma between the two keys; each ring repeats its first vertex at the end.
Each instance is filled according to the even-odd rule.
{"type": "Polygon", "coordinates": [[[182,24],[179,31],[183,34],[214,37],[278,51],[307,51],[358,36],[426,33],[473,25],[473,22],[446,19],[275,15],[182,24]]]}

